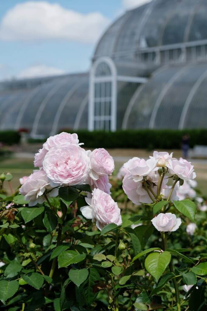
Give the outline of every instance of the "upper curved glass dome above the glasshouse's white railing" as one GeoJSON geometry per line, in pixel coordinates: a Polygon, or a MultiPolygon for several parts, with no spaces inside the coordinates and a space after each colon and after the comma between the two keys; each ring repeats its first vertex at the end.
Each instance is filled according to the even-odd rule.
{"type": "Polygon", "coordinates": [[[97,44],[94,59],[207,39],[206,0],[153,0],[126,12],[97,44]]]}

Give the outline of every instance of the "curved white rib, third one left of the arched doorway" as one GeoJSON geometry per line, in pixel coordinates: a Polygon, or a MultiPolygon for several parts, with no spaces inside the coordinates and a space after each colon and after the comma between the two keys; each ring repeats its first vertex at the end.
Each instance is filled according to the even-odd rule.
{"type": "Polygon", "coordinates": [[[66,83],[67,79],[64,79],[61,81],[61,83],[58,83],[57,85],[53,86],[52,89],[49,91],[49,93],[46,95],[46,97],[43,99],[42,103],[39,106],[38,112],[35,116],[31,136],[34,137],[36,135],[37,129],[38,129],[38,123],[41,118],[41,115],[43,113],[43,110],[45,106],[47,105],[48,101],[51,99],[51,97],[56,93],[56,91],[59,90],[59,88],[66,83]]]}

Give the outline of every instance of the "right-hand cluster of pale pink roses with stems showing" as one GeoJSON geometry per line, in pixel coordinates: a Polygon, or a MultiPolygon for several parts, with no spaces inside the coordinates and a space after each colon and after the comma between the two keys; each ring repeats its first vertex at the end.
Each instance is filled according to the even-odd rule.
{"type": "MultiPolygon", "coordinates": [[[[157,151],[148,160],[137,157],[130,159],[119,172],[119,176],[123,175],[124,192],[137,205],[152,203],[157,199],[156,194],[166,199],[170,195],[171,199],[179,200],[180,192],[183,191],[179,191],[178,184],[173,188],[169,186],[170,178],[181,181],[180,185],[185,189],[189,185],[187,182],[196,177],[190,162],[182,158],[177,160],[172,153],[157,151]]],[[[189,192],[189,188],[186,192],[189,192]]]]}

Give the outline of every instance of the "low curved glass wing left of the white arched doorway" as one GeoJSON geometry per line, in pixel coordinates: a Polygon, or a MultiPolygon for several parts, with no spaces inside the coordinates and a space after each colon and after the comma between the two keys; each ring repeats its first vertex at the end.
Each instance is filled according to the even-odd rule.
{"type": "Polygon", "coordinates": [[[81,119],[88,104],[88,73],[28,81],[1,88],[0,129],[26,128],[33,136],[47,136],[63,128],[87,128],[88,116],[81,119]]]}

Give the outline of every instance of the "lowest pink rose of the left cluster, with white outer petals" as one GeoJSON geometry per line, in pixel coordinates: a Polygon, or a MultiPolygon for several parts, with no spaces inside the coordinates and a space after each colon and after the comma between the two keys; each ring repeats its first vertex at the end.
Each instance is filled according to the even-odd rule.
{"type": "Polygon", "coordinates": [[[88,205],[81,207],[80,211],[83,217],[92,219],[92,221],[96,220],[99,230],[111,223],[116,225],[122,224],[120,209],[109,194],[100,189],[94,189],[92,199],[85,198],[85,200],[88,205]]]}

